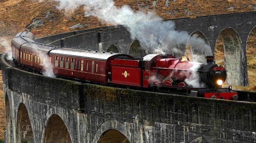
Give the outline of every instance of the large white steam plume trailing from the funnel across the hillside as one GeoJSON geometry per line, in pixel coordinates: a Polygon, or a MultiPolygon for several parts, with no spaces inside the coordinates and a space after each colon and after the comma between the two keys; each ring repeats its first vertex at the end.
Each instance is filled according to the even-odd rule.
{"type": "MultiPolygon", "coordinates": [[[[189,34],[185,31],[175,31],[175,24],[172,21],[162,21],[153,12],[134,12],[129,6],[116,7],[113,0],[55,0],[59,1],[59,9],[71,10],[82,6],[85,9],[85,16],[95,16],[98,19],[112,23],[122,24],[131,33],[132,39],[137,39],[144,44],[147,51],[157,52],[161,40],[160,52],[168,53],[181,52],[177,45],[186,45],[189,34]],[[153,37],[152,37],[153,34],[153,37]]],[[[193,48],[205,51],[205,54],[212,55],[209,47],[202,43],[200,38],[192,38],[189,44],[193,48]],[[203,44],[203,45],[201,45],[203,44]]],[[[159,52],[159,51],[158,51],[159,52]]]]}

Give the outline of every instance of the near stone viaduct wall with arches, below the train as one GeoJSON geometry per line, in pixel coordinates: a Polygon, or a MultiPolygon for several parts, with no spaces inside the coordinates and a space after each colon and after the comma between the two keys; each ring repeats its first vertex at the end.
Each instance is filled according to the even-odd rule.
{"type": "Polygon", "coordinates": [[[111,88],[11,67],[8,143],[256,143],[256,103],[111,88]]]}

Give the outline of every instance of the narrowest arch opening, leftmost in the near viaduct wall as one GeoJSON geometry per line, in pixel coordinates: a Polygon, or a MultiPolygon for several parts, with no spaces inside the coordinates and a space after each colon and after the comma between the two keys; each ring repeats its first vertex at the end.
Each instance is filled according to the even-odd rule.
{"type": "Polygon", "coordinates": [[[6,136],[7,136],[7,143],[14,143],[14,132],[12,127],[12,116],[11,116],[11,108],[10,102],[7,95],[5,94],[5,116],[6,116],[6,136]]]}

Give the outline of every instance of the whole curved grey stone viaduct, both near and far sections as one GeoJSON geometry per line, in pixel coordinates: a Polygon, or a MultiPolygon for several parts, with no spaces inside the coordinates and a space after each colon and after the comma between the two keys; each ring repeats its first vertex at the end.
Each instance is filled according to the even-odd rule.
{"type": "MultiPolygon", "coordinates": [[[[237,78],[230,78],[230,83],[246,85],[246,41],[252,30],[256,32],[255,14],[173,21],[177,30],[201,33],[213,51],[221,35],[226,67],[229,70],[231,66],[232,77],[237,78]]],[[[139,39],[131,39],[121,25],[52,35],[37,42],[122,53],[128,53],[133,45],[143,46],[139,39]]],[[[7,143],[256,143],[255,102],[135,91],[49,78],[11,67],[5,54],[1,55],[0,63],[7,143]]]]}

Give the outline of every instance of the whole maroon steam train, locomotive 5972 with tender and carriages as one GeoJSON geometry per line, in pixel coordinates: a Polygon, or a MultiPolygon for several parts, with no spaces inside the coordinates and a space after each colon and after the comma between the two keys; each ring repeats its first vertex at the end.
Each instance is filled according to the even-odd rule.
{"type": "Polygon", "coordinates": [[[45,64],[51,64],[56,76],[109,86],[238,99],[237,92],[231,92],[231,86],[221,88],[226,69],[215,64],[213,56],[207,57],[207,63],[169,54],[149,54],[134,59],[128,54],[54,47],[33,40],[34,34],[30,32],[18,33],[12,39],[12,57],[21,69],[42,72],[45,64]]]}

